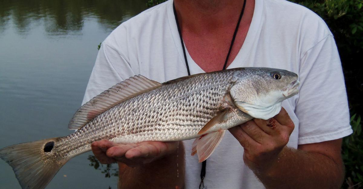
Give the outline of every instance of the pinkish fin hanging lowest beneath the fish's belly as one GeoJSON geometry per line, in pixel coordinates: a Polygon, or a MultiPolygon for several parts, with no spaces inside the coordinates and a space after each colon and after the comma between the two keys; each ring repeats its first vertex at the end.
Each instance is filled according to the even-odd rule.
{"type": "Polygon", "coordinates": [[[206,160],[221,142],[226,130],[218,130],[195,139],[192,145],[192,155],[198,153],[199,162],[206,160]]]}

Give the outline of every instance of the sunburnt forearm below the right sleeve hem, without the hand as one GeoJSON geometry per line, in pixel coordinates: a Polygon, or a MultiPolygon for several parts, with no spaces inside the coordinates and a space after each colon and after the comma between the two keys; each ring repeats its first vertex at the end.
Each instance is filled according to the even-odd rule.
{"type": "Polygon", "coordinates": [[[342,162],[326,155],[284,147],[267,170],[254,170],[266,188],[340,188],[342,162]]]}

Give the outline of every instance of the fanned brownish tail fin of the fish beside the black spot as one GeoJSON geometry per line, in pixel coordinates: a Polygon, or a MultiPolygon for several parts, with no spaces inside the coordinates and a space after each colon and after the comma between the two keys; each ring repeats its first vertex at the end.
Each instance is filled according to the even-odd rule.
{"type": "Polygon", "coordinates": [[[62,137],[20,143],[0,149],[0,158],[14,170],[21,188],[45,188],[59,169],[69,160],[61,159],[53,150],[62,137]]]}

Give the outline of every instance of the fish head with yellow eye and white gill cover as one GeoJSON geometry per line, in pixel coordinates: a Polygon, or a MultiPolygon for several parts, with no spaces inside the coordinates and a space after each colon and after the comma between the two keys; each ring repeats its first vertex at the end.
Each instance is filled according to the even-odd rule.
{"type": "Polygon", "coordinates": [[[280,112],[283,100],[299,92],[297,74],[282,69],[241,69],[232,82],[229,93],[237,108],[265,120],[280,112]]]}

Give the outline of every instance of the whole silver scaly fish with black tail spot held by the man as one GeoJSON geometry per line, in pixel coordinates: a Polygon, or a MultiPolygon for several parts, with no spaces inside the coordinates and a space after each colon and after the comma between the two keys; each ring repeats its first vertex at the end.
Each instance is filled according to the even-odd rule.
{"type": "MultiPolygon", "coordinates": [[[[143,87],[139,88],[131,82],[125,83],[95,97],[89,106],[83,105],[86,111],[80,108],[72,119],[80,128],[69,136],[1,149],[0,158],[13,167],[20,185],[45,188],[69,159],[90,151],[91,143],[101,139],[117,143],[181,141],[202,134],[217,134],[253,117],[273,117],[280,111],[282,100],[296,94],[298,86],[295,73],[272,68],[236,68],[196,74],[162,84],[156,82],[152,90],[140,90],[143,91],[140,94],[136,92],[147,88],[147,82],[140,83],[143,87]],[[130,93],[130,98],[122,97],[122,102],[112,100],[117,98],[118,90],[123,91],[123,95],[130,93]],[[110,95],[110,91],[114,95],[110,95]],[[105,104],[102,99],[106,98],[114,104],[109,106],[106,101],[105,104]],[[92,112],[94,107],[96,113],[92,112]],[[19,154],[29,154],[28,159],[19,158],[19,154]],[[36,163],[30,165],[24,161],[36,163]],[[24,166],[30,169],[22,170],[24,166]],[[41,179],[30,179],[29,175],[34,174],[41,179]]],[[[223,134],[218,136],[221,138],[223,134]]]]}

